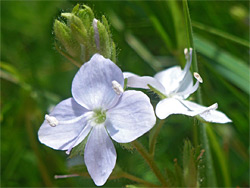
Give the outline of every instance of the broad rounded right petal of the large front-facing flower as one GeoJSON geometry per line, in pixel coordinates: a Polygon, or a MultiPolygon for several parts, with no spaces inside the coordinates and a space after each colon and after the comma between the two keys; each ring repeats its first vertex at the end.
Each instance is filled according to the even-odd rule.
{"type": "Polygon", "coordinates": [[[117,142],[131,142],[148,132],[155,124],[154,109],[147,95],[125,91],[119,103],[107,111],[106,127],[117,142]]]}

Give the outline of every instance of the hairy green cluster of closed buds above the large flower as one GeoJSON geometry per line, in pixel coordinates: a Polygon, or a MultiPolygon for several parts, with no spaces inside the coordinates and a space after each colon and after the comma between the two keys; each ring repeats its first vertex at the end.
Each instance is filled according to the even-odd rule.
{"type": "Polygon", "coordinates": [[[80,65],[95,53],[116,62],[116,46],[104,15],[99,21],[90,7],[77,4],[71,13],[61,16],[61,21],[54,22],[55,45],[61,54],[80,65]]]}

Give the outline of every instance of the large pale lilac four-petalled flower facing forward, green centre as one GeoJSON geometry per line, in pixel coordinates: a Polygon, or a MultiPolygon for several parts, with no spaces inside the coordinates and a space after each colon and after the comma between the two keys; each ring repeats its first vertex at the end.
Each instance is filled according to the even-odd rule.
{"type": "Polygon", "coordinates": [[[103,185],[116,163],[110,137],[128,143],[155,124],[149,98],[140,91],[123,91],[122,71],[95,54],[77,72],[72,98],[55,106],[38,131],[41,143],[57,150],[71,149],[88,136],[84,161],[96,185],[103,185]]]}

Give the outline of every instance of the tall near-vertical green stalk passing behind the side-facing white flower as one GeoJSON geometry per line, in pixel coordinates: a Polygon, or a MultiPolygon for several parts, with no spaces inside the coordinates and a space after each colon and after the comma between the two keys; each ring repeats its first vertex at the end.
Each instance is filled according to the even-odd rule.
{"type": "MultiPolygon", "coordinates": [[[[184,16],[186,21],[186,28],[187,28],[187,40],[188,40],[188,47],[193,48],[193,63],[192,63],[192,69],[194,72],[198,71],[198,63],[197,63],[197,57],[196,52],[194,49],[194,43],[193,43],[193,30],[192,30],[192,24],[188,9],[188,3],[187,0],[183,0],[183,9],[184,9],[184,16]]],[[[202,98],[201,98],[201,91],[198,89],[197,91],[197,101],[199,104],[202,104],[202,98]]],[[[206,125],[205,124],[198,124],[194,128],[198,128],[198,133],[200,134],[200,143],[201,146],[205,149],[205,160],[203,161],[203,164],[205,166],[204,171],[200,170],[200,176],[204,176],[204,181],[202,183],[202,186],[208,186],[208,187],[216,187],[216,178],[214,173],[214,167],[213,167],[213,161],[212,161],[212,155],[209,147],[209,142],[207,138],[206,133],[206,125]]],[[[203,178],[203,177],[201,177],[203,178]]]]}

